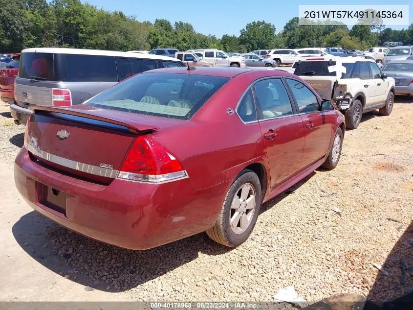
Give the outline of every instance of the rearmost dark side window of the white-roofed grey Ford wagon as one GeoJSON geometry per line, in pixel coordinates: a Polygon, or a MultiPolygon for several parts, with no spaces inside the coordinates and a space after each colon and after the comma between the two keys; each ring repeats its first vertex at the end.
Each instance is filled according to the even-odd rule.
{"type": "Polygon", "coordinates": [[[117,82],[115,57],[66,54],[68,82],[117,82]]]}

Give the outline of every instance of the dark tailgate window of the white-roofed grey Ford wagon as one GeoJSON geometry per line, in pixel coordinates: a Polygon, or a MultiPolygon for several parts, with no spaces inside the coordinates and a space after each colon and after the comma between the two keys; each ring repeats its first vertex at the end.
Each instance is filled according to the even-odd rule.
{"type": "Polygon", "coordinates": [[[19,77],[54,81],[52,53],[22,53],[19,77]]]}

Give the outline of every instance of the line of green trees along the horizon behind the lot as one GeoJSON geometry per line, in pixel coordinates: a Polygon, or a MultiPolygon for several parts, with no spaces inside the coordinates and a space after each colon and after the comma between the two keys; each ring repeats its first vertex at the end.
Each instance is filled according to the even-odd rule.
{"type": "Polygon", "coordinates": [[[80,0],[0,0],[0,51],[19,52],[23,48],[67,47],[108,50],[149,50],[173,47],[219,48],[247,52],[265,48],[345,47],[365,50],[384,42],[413,44],[413,24],[392,30],[384,25],[299,25],[289,20],[278,34],[276,27],[255,21],[240,30],[239,36],[221,38],[195,31],[192,24],[165,19],[139,22],[136,16],[108,12],[80,0]]]}

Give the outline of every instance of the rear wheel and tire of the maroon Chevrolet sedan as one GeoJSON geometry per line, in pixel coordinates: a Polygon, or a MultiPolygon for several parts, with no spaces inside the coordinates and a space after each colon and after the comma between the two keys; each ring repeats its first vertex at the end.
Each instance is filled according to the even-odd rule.
{"type": "Polygon", "coordinates": [[[261,183],[257,174],[244,169],[228,190],[215,225],[206,231],[209,238],[228,247],[248,239],[261,207],[261,183]]]}

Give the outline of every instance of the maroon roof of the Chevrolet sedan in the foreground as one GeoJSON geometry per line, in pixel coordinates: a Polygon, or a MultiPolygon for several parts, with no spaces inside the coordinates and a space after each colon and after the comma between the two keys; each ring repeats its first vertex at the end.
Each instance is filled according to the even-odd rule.
{"type": "MultiPolygon", "coordinates": [[[[154,69],[150,71],[142,72],[141,74],[148,74],[148,73],[180,73],[180,74],[195,74],[195,75],[209,75],[209,76],[220,76],[220,77],[228,77],[233,78],[239,74],[248,74],[252,72],[277,72],[278,76],[291,76],[296,77],[295,75],[288,73],[286,71],[278,71],[278,70],[265,70],[265,69],[258,69],[258,68],[236,68],[236,67],[196,67],[192,70],[188,70],[187,67],[174,67],[174,68],[162,68],[162,69],[154,69]]],[[[263,75],[268,75],[263,74],[263,75]]]]}

